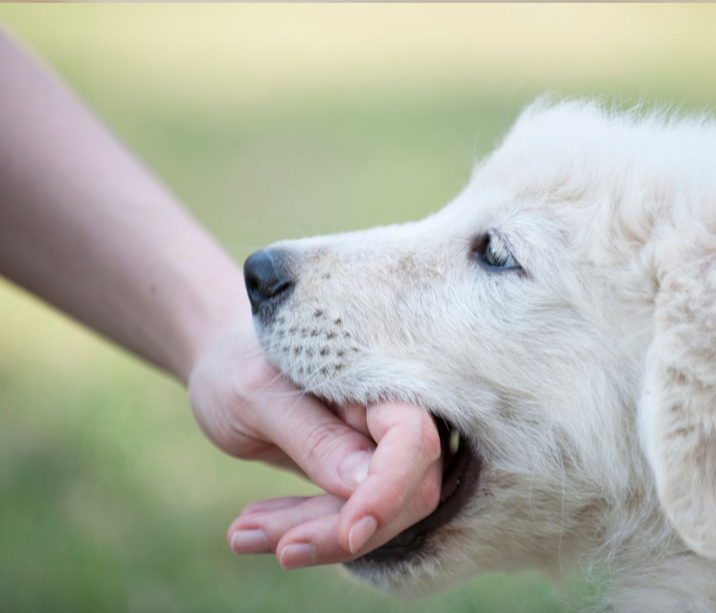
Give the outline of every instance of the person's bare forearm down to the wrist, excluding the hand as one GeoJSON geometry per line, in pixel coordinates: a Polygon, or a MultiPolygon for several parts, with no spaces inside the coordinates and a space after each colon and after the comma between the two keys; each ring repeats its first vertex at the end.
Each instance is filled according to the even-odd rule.
{"type": "Polygon", "coordinates": [[[1,33],[0,273],[183,380],[249,313],[231,258],[1,33]]]}

